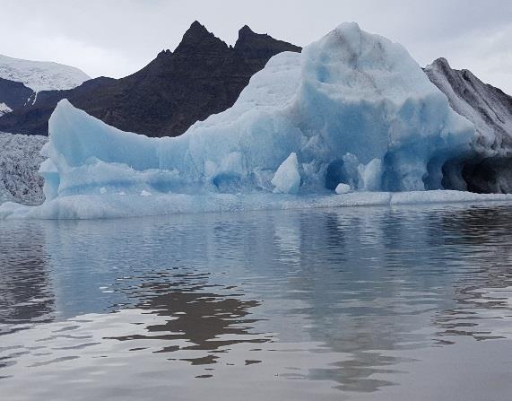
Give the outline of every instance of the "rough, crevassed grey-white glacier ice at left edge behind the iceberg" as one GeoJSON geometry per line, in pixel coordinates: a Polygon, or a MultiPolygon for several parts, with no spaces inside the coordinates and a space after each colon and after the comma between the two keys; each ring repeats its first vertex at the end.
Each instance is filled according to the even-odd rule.
{"type": "Polygon", "coordinates": [[[44,200],[39,154],[48,138],[0,133],[0,203],[38,205],[44,200]]]}

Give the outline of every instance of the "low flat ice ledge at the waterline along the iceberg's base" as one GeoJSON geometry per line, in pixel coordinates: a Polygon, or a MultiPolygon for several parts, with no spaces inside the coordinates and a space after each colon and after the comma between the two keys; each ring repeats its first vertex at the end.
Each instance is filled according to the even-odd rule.
{"type": "Polygon", "coordinates": [[[512,195],[457,191],[351,192],[343,196],[295,196],[268,192],[242,195],[172,193],[148,197],[139,194],[73,195],[59,196],[38,207],[6,202],[0,205],[0,219],[104,219],[158,214],[475,202],[507,202],[510,205],[512,195]]]}

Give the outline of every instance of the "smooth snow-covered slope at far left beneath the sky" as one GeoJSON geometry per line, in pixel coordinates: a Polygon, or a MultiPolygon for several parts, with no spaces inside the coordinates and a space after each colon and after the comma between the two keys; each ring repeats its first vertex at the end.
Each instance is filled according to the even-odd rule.
{"type": "Polygon", "coordinates": [[[24,83],[34,92],[72,89],[91,79],[78,68],[0,55],[0,78],[24,83]]]}

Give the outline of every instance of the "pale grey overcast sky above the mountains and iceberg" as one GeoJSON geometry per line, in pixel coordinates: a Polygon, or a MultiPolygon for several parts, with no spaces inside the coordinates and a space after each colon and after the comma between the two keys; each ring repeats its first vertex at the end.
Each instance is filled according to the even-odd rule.
{"type": "Polygon", "coordinates": [[[0,54],[121,77],[174,49],[198,20],[307,45],[341,22],[402,43],[421,65],[447,57],[512,94],[512,0],[0,0],[0,54]]]}

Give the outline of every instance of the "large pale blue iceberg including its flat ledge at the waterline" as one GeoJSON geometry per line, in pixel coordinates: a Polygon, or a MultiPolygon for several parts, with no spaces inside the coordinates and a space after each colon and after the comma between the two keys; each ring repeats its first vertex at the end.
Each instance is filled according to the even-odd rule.
{"type": "Polygon", "coordinates": [[[403,46],[343,23],[273,57],[231,109],[175,138],[123,132],[61,100],[42,151],[45,203],[6,203],[0,216],[510,199],[442,191],[464,185],[447,161],[475,135],[403,46]],[[340,185],[352,192],[335,195],[340,185]]]}

